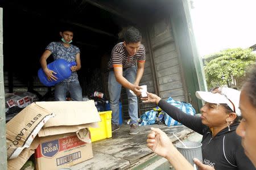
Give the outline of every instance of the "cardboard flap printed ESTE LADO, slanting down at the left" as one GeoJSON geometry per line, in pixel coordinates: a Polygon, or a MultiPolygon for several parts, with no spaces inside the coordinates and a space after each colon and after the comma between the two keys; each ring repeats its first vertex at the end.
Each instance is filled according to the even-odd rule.
{"type": "Polygon", "coordinates": [[[14,159],[32,141],[53,114],[35,103],[28,105],[6,124],[7,158],[14,159]]]}

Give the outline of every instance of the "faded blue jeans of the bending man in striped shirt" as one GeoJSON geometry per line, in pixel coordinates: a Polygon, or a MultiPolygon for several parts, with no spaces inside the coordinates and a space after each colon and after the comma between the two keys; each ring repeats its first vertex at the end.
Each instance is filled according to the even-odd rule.
{"type": "MultiPolygon", "coordinates": [[[[137,69],[135,66],[123,69],[123,77],[125,77],[130,83],[134,83],[136,79],[137,69]]],[[[122,85],[115,79],[114,71],[109,71],[109,97],[110,97],[110,108],[112,110],[112,124],[119,125],[119,99],[121,95],[122,85]]],[[[131,118],[130,125],[138,125],[138,101],[137,96],[133,96],[129,89],[126,88],[126,94],[128,97],[129,104],[129,116],[131,118]]]]}

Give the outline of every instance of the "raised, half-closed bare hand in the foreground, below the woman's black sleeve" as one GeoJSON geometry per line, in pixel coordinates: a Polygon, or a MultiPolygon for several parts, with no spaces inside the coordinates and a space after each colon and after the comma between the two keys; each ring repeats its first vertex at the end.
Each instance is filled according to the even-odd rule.
{"type": "Polygon", "coordinates": [[[166,133],[159,128],[151,128],[151,130],[147,135],[147,147],[159,156],[166,158],[170,150],[175,148],[174,145],[166,133]]]}

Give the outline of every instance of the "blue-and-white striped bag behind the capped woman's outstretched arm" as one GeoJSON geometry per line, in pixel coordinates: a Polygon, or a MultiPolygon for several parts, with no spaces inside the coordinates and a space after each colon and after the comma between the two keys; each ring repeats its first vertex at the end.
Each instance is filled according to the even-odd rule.
{"type": "MultiPolygon", "coordinates": [[[[166,101],[167,101],[167,103],[174,105],[175,107],[181,109],[181,111],[183,111],[187,114],[195,115],[195,113],[196,113],[195,109],[192,107],[192,105],[190,103],[176,101],[176,100],[172,99],[172,97],[169,97],[169,99],[167,99],[166,101]]],[[[174,120],[166,112],[164,112],[164,123],[167,126],[181,125],[180,122],[177,122],[176,120],[174,120]]]]}

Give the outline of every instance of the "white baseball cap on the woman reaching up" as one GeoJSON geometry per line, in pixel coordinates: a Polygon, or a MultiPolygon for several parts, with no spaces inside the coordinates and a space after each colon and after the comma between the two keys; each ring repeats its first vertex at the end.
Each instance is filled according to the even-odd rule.
{"type": "Polygon", "coordinates": [[[241,116],[239,107],[240,91],[228,87],[216,87],[212,92],[197,91],[196,97],[208,103],[228,104],[230,109],[241,116]]]}

